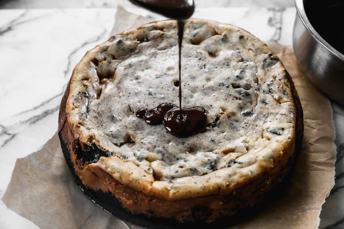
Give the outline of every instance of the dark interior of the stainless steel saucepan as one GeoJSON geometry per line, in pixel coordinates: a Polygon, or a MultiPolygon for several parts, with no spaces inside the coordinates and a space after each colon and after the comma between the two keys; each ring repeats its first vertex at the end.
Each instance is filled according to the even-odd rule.
{"type": "Polygon", "coordinates": [[[315,31],[333,48],[344,54],[344,1],[305,0],[304,8],[315,31]]]}

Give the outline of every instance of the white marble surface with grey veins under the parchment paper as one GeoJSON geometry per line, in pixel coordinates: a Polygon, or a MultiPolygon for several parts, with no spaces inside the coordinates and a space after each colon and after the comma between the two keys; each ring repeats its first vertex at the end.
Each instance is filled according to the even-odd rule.
{"type": "MultiPolygon", "coordinates": [[[[138,8],[127,8],[152,15],[138,8]]],[[[295,9],[197,8],[195,18],[231,23],[263,41],[292,44],[295,9]]],[[[116,9],[0,10],[0,198],[15,160],[40,149],[57,129],[58,108],[73,67],[105,41],[116,9]]],[[[344,108],[333,104],[336,185],[320,228],[344,228],[344,108]]],[[[37,228],[0,201],[0,228],[37,228]]]]}

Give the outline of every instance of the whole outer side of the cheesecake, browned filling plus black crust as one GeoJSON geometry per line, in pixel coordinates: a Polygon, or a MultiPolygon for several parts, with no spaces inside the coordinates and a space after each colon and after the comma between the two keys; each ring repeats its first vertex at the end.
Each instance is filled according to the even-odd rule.
{"type": "MultiPolygon", "coordinates": [[[[294,148],[293,150],[295,151],[295,154],[296,154],[297,152],[300,151],[301,144],[302,144],[303,112],[302,112],[302,106],[299,100],[299,96],[297,94],[295,86],[288,72],[286,76],[291,85],[293,100],[296,107],[295,144],[293,144],[295,146],[295,148],[293,147],[294,148]]],[[[200,226],[202,226],[204,222],[212,222],[214,220],[223,218],[225,216],[234,215],[236,214],[238,210],[243,209],[245,207],[254,206],[258,202],[260,202],[264,198],[264,196],[274,186],[277,186],[277,184],[279,184],[282,180],[284,180],[284,176],[286,176],[290,172],[290,169],[292,168],[292,165],[294,164],[293,163],[294,157],[290,157],[284,160],[282,159],[282,162],[284,163],[280,163],[280,165],[283,165],[283,166],[277,169],[277,172],[275,173],[275,175],[277,176],[273,177],[271,176],[270,173],[268,174],[266,173],[264,177],[262,177],[255,184],[252,184],[254,183],[252,182],[249,185],[246,185],[242,188],[238,188],[237,190],[230,193],[229,195],[204,196],[204,197],[197,197],[194,199],[186,199],[182,201],[166,201],[163,199],[147,196],[146,194],[132,190],[131,188],[120,184],[118,181],[116,181],[114,178],[112,178],[109,174],[107,174],[105,171],[101,169],[93,170],[93,171],[86,169],[85,171],[87,173],[78,174],[77,171],[80,170],[80,164],[79,164],[80,160],[77,160],[77,150],[78,150],[78,145],[79,145],[78,136],[73,136],[71,129],[68,125],[68,122],[66,122],[65,107],[66,107],[66,100],[68,98],[68,94],[69,94],[69,84],[63,96],[63,99],[61,101],[61,106],[60,106],[59,136],[60,136],[61,145],[62,145],[65,159],[69,165],[69,168],[73,172],[77,183],[79,184],[79,186],[83,187],[87,195],[89,195],[92,199],[95,199],[96,203],[98,203],[100,206],[104,207],[105,209],[109,210],[110,213],[118,216],[122,220],[130,221],[140,226],[154,228],[155,226],[153,225],[159,225],[157,223],[159,221],[162,223],[162,225],[164,225],[166,223],[166,218],[170,218],[168,221],[169,225],[172,225],[172,226],[178,225],[177,228],[181,228],[180,223],[179,223],[180,221],[197,221],[197,222],[200,222],[200,226]],[[93,177],[93,179],[97,179],[96,182],[94,182],[95,180],[92,180],[92,179],[89,179],[89,180],[85,179],[85,175],[87,174],[90,175],[90,177],[93,177]],[[97,186],[99,183],[105,183],[104,181],[107,182],[107,185],[108,185],[107,187],[101,187],[101,185],[97,186]],[[257,192],[255,190],[252,190],[252,187],[256,187],[255,189],[257,189],[258,187],[260,191],[257,192]],[[244,193],[245,191],[246,193],[247,191],[251,191],[252,193],[256,193],[256,194],[251,195],[251,193],[249,193],[250,198],[247,198],[247,196],[245,197],[245,195],[240,196],[240,190],[241,191],[244,190],[244,193]],[[123,195],[124,195],[124,198],[123,198],[123,195]],[[109,198],[111,198],[110,202],[108,202],[109,198]],[[104,202],[104,199],[106,199],[107,202],[104,202]],[[235,201],[236,199],[239,199],[239,202],[235,201]],[[206,207],[204,206],[204,204],[200,204],[200,203],[206,203],[208,205],[213,205],[214,202],[216,201],[217,202],[229,201],[233,203],[229,204],[227,208],[223,208],[223,209],[217,209],[216,207],[209,208],[209,206],[206,207]],[[155,204],[149,204],[153,202],[155,202],[155,204]],[[195,202],[195,203],[192,203],[192,202],[195,202]],[[176,212],[179,212],[181,209],[174,209],[174,211],[173,210],[169,211],[168,209],[171,207],[171,203],[173,203],[172,206],[176,206],[178,203],[181,206],[183,206],[182,210],[184,211],[182,212],[182,214],[175,214],[176,212]],[[157,209],[158,206],[166,206],[167,208],[165,207],[159,211],[159,209],[157,209]],[[129,210],[132,213],[135,213],[137,217],[136,218],[128,217],[128,213],[124,213],[126,212],[126,210],[129,210]],[[136,219],[140,219],[140,220],[136,220],[136,219]],[[151,222],[154,222],[154,224],[151,224],[151,222]]],[[[82,149],[79,147],[79,150],[82,150],[82,149]]],[[[131,216],[131,214],[129,215],[131,216]]],[[[187,224],[183,224],[183,225],[187,225],[187,224]]],[[[155,227],[155,228],[161,228],[161,227],[155,227]]],[[[165,228],[170,228],[170,227],[165,227],[165,228]]]]}

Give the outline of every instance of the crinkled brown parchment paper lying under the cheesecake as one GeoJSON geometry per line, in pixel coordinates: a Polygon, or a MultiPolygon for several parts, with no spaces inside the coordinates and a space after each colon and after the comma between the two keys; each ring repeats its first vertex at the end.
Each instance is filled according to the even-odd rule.
{"type": "MultiPolygon", "coordinates": [[[[111,33],[149,21],[119,7],[111,33]]],[[[334,185],[336,152],[330,101],[303,75],[292,47],[268,45],[283,61],[301,99],[305,127],[302,151],[286,193],[256,216],[231,228],[318,228],[321,206],[334,185]]],[[[75,184],[57,134],[40,151],[17,160],[2,200],[10,209],[44,229],[128,228],[89,201],[75,184]]]]}

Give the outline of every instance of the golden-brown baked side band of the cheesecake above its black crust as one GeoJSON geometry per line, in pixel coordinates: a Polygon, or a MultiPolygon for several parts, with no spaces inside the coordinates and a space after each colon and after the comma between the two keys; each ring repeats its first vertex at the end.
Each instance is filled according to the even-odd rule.
{"type": "MultiPolygon", "coordinates": [[[[295,155],[301,148],[303,137],[301,102],[289,73],[286,76],[291,85],[297,111],[295,139],[292,139],[290,147],[283,152],[281,160],[276,167],[270,171],[265,171],[259,179],[244,184],[227,195],[218,194],[180,201],[167,201],[148,196],[122,185],[96,165],[88,164],[88,162],[84,163],[78,157],[78,154],[83,153],[79,145],[78,136],[73,135],[66,121],[65,110],[66,100],[69,95],[69,84],[61,101],[59,114],[59,136],[61,144],[65,146],[62,147],[65,159],[71,171],[85,188],[111,194],[121,204],[118,207],[122,207],[134,214],[143,214],[147,217],[173,218],[180,222],[198,220],[212,222],[219,218],[234,215],[240,209],[252,207],[262,201],[272,187],[280,183],[284,176],[293,168],[295,155]]],[[[102,207],[105,209],[112,208],[111,203],[109,203],[109,206],[102,207]]],[[[113,211],[110,212],[116,214],[113,211]]]]}

